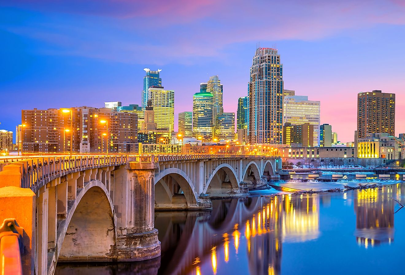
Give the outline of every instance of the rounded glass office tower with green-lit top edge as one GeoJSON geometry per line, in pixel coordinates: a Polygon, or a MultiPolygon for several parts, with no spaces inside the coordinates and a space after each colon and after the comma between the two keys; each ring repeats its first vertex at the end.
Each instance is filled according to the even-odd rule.
{"type": "Polygon", "coordinates": [[[213,95],[209,92],[193,96],[193,137],[211,138],[213,130],[213,95]]]}

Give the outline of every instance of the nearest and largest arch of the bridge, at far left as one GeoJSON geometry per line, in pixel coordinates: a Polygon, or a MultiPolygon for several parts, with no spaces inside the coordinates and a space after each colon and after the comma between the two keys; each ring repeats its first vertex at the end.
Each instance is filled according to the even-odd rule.
{"type": "MultiPolygon", "coordinates": [[[[57,232],[59,261],[105,261],[113,258],[116,216],[106,186],[99,180],[85,184],[57,232]]],[[[54,262],[56,264],[56,260],[54,262]]]]}

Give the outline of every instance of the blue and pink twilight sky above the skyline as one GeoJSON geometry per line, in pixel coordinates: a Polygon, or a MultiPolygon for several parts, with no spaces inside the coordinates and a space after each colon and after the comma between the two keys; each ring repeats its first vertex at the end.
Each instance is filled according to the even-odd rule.
{"type": "Polygon", "coordinates": [[[162,69],[176,120],[213,75],[236,112],[260,43],[338,140],[354,140],[357,93],[372,90],[396,94],[398,135],[404,14],[405,0],[0,0],[0,129],[15,131],[21,109],[141,104],[143,68],[162,69]]]}

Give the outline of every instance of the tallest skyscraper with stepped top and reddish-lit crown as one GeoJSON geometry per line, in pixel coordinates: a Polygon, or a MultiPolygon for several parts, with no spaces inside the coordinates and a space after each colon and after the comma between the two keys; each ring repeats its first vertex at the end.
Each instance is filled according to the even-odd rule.
{"type": "Polygon", "coordinates": [[[258,48],[250,68],[249,143],[282,144],[283,64],[276,49],[258,48]]]}

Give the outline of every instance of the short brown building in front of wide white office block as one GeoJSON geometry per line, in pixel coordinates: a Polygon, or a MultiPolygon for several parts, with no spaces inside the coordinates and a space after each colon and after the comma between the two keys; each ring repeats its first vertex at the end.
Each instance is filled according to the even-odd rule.
{"type": "Polygon", "coordinates": [[[283,140],[287,145],[300,144],[301,147],[313,147],[313,128],[314,125],[304,123],[301,125],[284,124],[283,140]]]}

